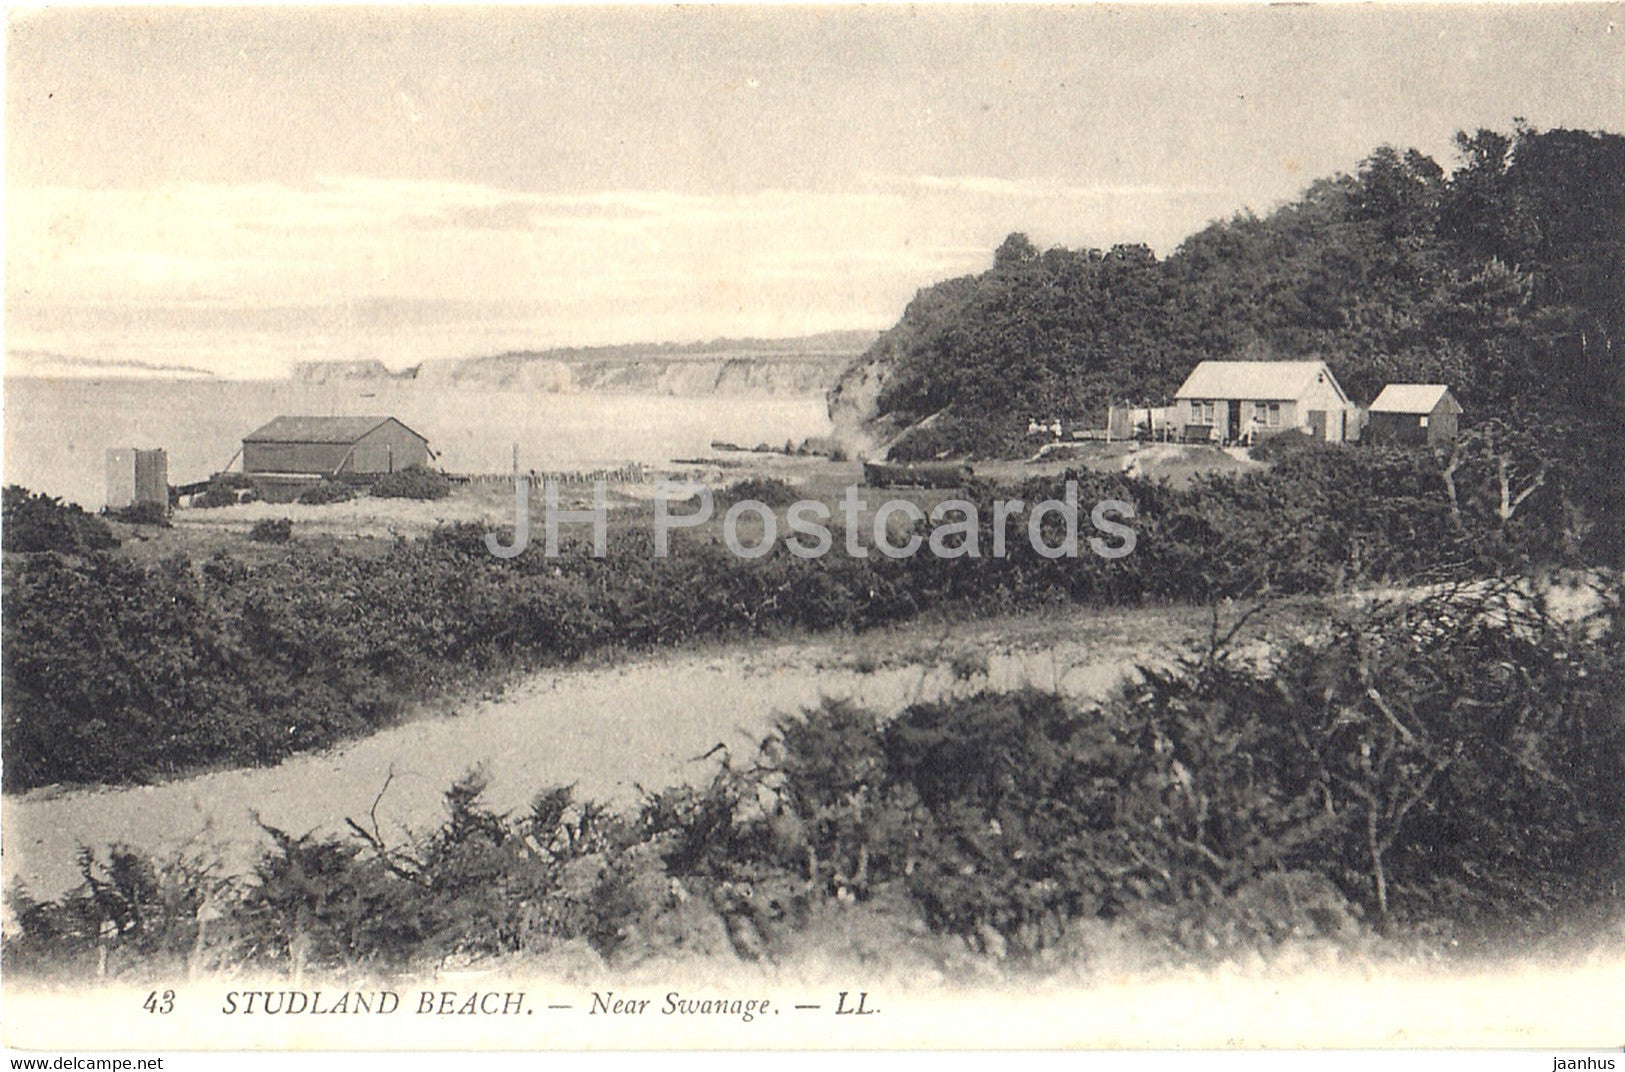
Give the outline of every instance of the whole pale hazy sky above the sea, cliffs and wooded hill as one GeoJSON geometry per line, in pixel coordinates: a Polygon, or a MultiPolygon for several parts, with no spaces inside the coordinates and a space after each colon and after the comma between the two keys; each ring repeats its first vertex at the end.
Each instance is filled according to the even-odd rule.
{"type": "Polygon", "coordinates": [[[1378,145],[1625,132],[1625,8],[8,11],[8,369],[884,328],[1378,145]]]}

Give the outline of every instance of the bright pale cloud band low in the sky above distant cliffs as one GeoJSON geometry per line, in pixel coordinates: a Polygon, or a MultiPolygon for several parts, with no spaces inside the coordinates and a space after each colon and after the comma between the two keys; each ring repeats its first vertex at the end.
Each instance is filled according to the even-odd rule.
{"type": "Polygon", "coordinates": [[[135,346],[140,323],[174,330],[176,352],[237,336],[254,336],[255,354],[278,352],[302,336],[306,351],[346,356],[384,338],[392,351],[478,352],[494,325],[530,344],[884,326],[920,287],[985,268],[1011,231],[1043,245],[1168,249],[1228,210],[1207,197],[978,175],[718,193],[358,175],[20,185],[6,198],[6,307],[41,346],[67,346],[50,331],[68,325],[73,348],[102,354],[135,346]],[[344,312],[369,307],[385,312],[344,312]],[[219,315],[188,326],[176,309],[219,315]]]}

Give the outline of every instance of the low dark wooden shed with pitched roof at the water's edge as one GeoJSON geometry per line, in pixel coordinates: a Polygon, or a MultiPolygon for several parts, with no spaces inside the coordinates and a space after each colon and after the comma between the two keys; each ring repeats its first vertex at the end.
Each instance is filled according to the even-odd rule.
{"type": "Polygon", "coordinates": [[[395,417],[276,417],[242,437],[242,471],[338,479],[429,463],[429,440],[395,417]]]}

